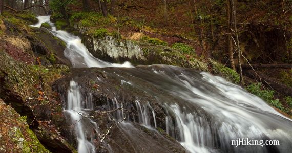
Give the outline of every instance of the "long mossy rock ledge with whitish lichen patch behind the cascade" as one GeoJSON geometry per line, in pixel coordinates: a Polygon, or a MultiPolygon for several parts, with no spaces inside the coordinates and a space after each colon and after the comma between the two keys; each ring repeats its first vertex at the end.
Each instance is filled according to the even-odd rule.
{"type": "Polygon", "coordinates": [[[234,70],[212,59],[195,58],[168,46],[115,38],[109,34],[93,37],[88,34],[86,27],[75,25],[75,28],[82,35],[82,42],[89,52],[101,60],[112,63],[130,61],[134,65],[167,64],[194,68],[220,75],[234,83],[239,82],[239,75],[234,70]]]}

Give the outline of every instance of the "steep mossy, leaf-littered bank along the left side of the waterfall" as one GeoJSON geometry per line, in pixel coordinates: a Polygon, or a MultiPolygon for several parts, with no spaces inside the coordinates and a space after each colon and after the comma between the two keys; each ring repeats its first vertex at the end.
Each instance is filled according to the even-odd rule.
{"type": "MultiPolygon", "coordinates": [[[[64,55],[58,56],[62,55],[65,49],[62,46],[64,42],[54,37],[47,29],[29,27],[28,25],[33,24],[32,21],[37,22],[33,15],[26,13],[12,15],[8,12],[4,15],[7,17],[1,16],[0,19],[0,98],[16,110],[17,113],[14,114],[19,113],[23,116],[22,122],[26,120],[34,134],[28,129],[27,124],[22,122],[19,122],[23,124],[19,132],[18,124],[1,124],[1,129],[13,128],[19,134],[15,141],[9,140],[13,137],[12,134],[2,134],[4,138],[2,140],[7,140],[3,147],[6,151],[16,146],[16,149],[20,147],[19,152],[44,152],[45,146],[53,152],[73,152],[74,148],[58,133],[60,126],[54,125],[66,122],[66,119],[62,116],[61,101],[51,89],[54,80],[69,72],[66,65],[58,64],[70,65],[67,59],[62,58],[64,55]],[[36,137],[30,138],[30,135],[23,131],[26,129],[29,134],[36,137]],[[25,141],[18,140],[18,137],[25,141]],[[20,141],[24,143],[23,147],[18,145],[20,141]],[[39,150],[36,150],[34,144],[39,141],[41,144],[37,146],[39,150]],[[26,150],[22,150],[23,148],[26,150]]],[[[9,107],[5,104],[2,106],[5,109],[9,107]]],[[[1,111],[1,115],[5,116],[5,111],[1,111]]],[[[18,116],[7,117],[17,120],[18,116]]]]}

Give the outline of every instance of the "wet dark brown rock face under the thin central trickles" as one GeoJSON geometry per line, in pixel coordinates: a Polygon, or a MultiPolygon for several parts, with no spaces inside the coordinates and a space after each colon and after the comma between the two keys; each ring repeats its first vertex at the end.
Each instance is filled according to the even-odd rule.
{"type": "MultiPolygon", "coordinates": [[[[166,130],[165,112],[155,97],[139,88],[131,88],[127,82],[121,81],[119,75],[123,72],[128,73],[130,71],[128,70],[126,68],[73,69],[71,75],[54,83],[54,89],[58,91],[62,101],[67,102],[69,82],[73,79],[80,86],[81,101],[84,101],[82,103],[92,101],[93,110],[88,113],[98,125],[98,132],[93,140],[95,146],[100,145],[102,136],[107,133],[110,126],[122,118],[122,111],[118,109],[118,105],[122,104],[127,110],[123,111],[126,120],[110,129],[110,134],[106,136],[105,143],[98,148],[98,152],[185,152],[176,140],[164,132],[166,130]],[[139,106],[145,110],[139,110],[139,106]],[[140,111],[143,111],[147,121],[143,122],[140,111]],[[155,118],[153,113],[155,113],[155,118]],[[160,132],[154,130],[155,128],[160,132]]],[[[157,91],[154,86],[149,86],[149,88],[153,92],[157,91]]],[[[66,108],[66,103],[63,107],[66,108]]],[[[91,122],[85,125],[85,127],[91,126],[93,126],[91,122]]],[[[92,129],[84,129],[84,131],[92,134],[89,132],[92,129]]],[[[71,132],[67,136],[72,138],[74,135],[74,132],[71,132]]],[[[71,143],[74,141],[76,140],[72,140],[71,143]]]]}

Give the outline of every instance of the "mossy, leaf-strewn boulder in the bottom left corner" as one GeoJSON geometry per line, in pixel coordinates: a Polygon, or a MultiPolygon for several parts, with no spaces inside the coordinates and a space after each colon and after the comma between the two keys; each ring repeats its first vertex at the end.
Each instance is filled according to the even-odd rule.
{"type": "Polygon", "coordinates": [[[26,123],[10,105],[0,99],[0,152],[50,152],[36,138],[26,123]]]}

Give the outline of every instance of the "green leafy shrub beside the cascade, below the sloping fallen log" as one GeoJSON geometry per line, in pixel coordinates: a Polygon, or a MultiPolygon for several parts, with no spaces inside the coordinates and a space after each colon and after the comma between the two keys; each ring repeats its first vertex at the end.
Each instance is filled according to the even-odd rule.
{"type": "Polygon", "coordinates": [[[262,83],[253,83],[248,85],[246,89],[251,92],[252,94],[262,98],[264,101],[268,102],[270,105],[279,108],[279,110],[283,110],[283,105],[279,101],[279,99],[274,98],[274,92],[270,90],[262,90],[261,89],[262,83]]]}

